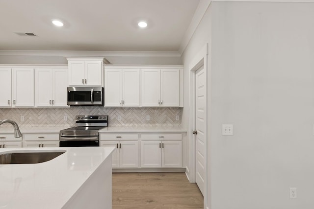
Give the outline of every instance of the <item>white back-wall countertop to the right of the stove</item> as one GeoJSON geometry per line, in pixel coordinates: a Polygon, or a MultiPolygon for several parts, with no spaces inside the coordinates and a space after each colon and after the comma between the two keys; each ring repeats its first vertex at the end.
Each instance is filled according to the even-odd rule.
{"type": "Polygon", "coordinates": [[[141,133],[154,133],[154,132],[186,132],[182,126],[108,126],[101,130],[99,133],[110,132],[141,132],[141,133]]]}

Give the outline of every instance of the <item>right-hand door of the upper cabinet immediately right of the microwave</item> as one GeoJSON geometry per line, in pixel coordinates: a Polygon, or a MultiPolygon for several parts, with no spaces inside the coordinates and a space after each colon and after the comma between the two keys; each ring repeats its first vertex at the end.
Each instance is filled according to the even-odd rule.
{"type": "Polygon", "coordinates": [[[139,106],[139,70],[122,71],[123,106],[139,106]]]}

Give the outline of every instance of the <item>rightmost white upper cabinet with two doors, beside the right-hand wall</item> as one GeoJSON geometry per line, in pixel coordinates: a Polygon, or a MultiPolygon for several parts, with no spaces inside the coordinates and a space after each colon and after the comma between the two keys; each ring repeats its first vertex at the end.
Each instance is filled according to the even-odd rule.
{"type": "Polygon", "coordinates": [[[145,106],[180,106],[179,69],[142,69],[142,99],[145,106]]]}

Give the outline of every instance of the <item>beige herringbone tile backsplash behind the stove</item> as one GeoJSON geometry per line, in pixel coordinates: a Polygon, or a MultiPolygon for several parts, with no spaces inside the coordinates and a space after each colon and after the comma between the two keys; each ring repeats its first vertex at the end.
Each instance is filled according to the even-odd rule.
{"type": "MultiPolygon", "coordinates": [[[[108,115],[109,126],[179,126],[182,108],[0,108],[0,120],[11,119],[19,126],[73,126],[77,115],[108,115]],[[24,121],[21,121],[24,116],[24,121]],[[68,120],[64,121],[64,116],[68,120]],[[118,116],[121,117],[118,120],[118,116]],[[146,120],[150,116],[150,120],[146,120]],[[179,120],[176,120],[179,116],[179,120]]],[[[10,124],[3,124],[10,126],[10,124]]]]}

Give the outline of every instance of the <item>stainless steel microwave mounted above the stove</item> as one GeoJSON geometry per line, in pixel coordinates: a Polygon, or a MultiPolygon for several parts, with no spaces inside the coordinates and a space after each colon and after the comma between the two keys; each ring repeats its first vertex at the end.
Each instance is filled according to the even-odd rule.
{"type": "Polygon", "coordinates": [[[68,87],[68,105],[104,105],[103,87],[68,87]]]}

